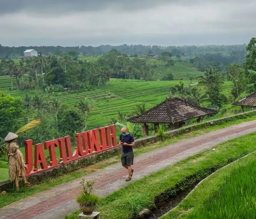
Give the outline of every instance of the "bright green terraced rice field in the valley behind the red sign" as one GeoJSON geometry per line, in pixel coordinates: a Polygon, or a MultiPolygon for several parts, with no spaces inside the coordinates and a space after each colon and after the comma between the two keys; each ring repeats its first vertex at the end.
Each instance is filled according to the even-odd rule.
{"type": "MultiPolygon", "coordinates": [[[[24,81],[28,78],[24,77],[24,81]]],[[[197,81],[192,81],[196,85],[197,81]]],[[[190,81],[183,80],[185,85],[190,81]]],[[[69,92],[55,92],[51,98],[57,98],[61,103],[67,103],[70,106],[76,105],[81,99],[87,98],[93,101],[94,110],[90,114],[88,125],[97,127],[106,125],[111,118],[117,115],[118,111],[129,114],[134,112],[137,105],[146,103],[146,108],[152,108],[168,96],[170,88],[179,84],[179,81],[147,81],[139,80],[129,81],[129,79],[111,79],[108,86],[100,86],[87,90],[77,90],[69,92]]],[[[195,86],[194,85],[194,86],[195,86]]],[[[31,97],[35,95],[43,96],[47,99],[46,94],[39,90],[17,91],[16,80],[13,78],[13,88],[11,88],[11,79],[8,76],[0,77],[0,91],[6,91],[14,97],[23,97],[28,93],[31,97]]],[[[228,91],[232,88],[232,82],[225,82],[223,93],[228,95],[228,91]]],[[[34,112],[29,113],[30,119],[33,119],[34,112]]],[[[54,117],[54,115],[52,115],[54,117]]],[[[20,118],[23,121],[23,118],[20,118]]]]}

